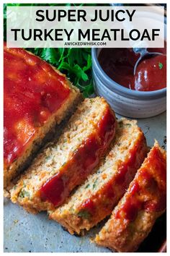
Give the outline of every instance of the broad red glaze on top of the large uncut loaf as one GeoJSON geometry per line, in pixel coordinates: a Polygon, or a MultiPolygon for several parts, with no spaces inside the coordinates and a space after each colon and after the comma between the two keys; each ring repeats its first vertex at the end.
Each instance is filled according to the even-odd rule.
{"type": "Polygon", "coordinates": [[[4,164],[9,166],[39,127],[66,101],[66,77],[22,48],[4,44],[4,164]]]}

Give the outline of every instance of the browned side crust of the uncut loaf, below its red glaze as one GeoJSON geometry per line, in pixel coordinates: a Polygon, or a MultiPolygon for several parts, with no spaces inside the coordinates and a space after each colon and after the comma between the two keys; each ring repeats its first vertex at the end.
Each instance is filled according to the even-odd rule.
{"type": "MultiPolygon", "coordinates": [[[[31,52],[28,53],[34,56],[31,52]]],[[[38,56],[37,58],[40,59],[38,56]]],[[[51,65],[50,67],[52,67],[58,74],[66,77],[65,74],[59,72],[55,67],[51,65]]],[[[64,86],[71,88],[71,93],[66,99],[66,102],[58,109],[58,111],[56,111],[56,113],[50,116],[49,121],[46,122],[43,127],[40,127],[37,132],[37,136],[30,145],[27,146],[22,155],[19,156],[19,158],[17,158],[10,166],[4,166],[4,189],[6,189],[6,191],[8,190],[7,186],[10,185],[12,179],[14,179],[20,172],[24,171],[35,157],[35,153],[37,153],[37,151],[45,145],[46,142],[50,141],[55,134],[56,128],[58,128],[58,124],[60,124],[66,116],[70,116],[76,108],[76,105],[82,101],[83,97],[79,92],[79,89],[73,86],[69,80],[66,80],[66,84],[64,84],[64,86]]],[[[9,194],[4,192],[4,195],[8,196],[9,194]]]]}

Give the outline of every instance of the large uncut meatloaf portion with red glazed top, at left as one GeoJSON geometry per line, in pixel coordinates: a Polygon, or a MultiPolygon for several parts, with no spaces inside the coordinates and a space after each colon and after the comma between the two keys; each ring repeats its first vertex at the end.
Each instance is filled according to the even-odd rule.
{"type": "Polygon", "coordinates": [[[4,43],[4,187],[80,99],[65,75],[4,43]]]}

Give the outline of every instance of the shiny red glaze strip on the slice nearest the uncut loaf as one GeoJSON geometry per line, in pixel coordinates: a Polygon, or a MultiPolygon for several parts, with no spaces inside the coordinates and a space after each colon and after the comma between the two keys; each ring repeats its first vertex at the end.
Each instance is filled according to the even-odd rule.
{"type": "Polygon", "coordinates": [[[53,176],[41,187],[42,200],[52,202],[55,207],[61,205],[71,190],[91,174],[115,136],[115,122],[115,116],[107,108],[97,125],[97,132],[84,141],[59,174],[53,176]]]}

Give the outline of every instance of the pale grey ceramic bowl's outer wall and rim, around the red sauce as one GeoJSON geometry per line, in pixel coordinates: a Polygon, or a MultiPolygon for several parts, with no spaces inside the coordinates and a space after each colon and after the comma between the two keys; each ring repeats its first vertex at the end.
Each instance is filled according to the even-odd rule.
{"type": "Polygon", "coordinates": [[[94,88],[97,95],[104,97],[117,114],[132,118],[147,118],[166,111],[166,88],[141,92],[117,84],[100,66],[97,58],[99,50],[99,48],[91,49],[94,88]]]}

